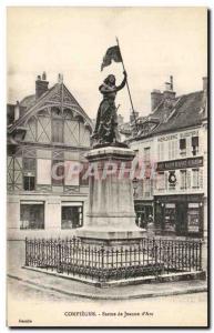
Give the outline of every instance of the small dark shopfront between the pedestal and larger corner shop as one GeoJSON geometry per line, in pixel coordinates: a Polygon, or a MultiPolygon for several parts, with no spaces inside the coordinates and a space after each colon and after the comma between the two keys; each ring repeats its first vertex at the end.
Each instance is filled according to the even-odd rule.
{"type": "Polygon", "coordinates": [[[146,228],[150,218],[153,218],[153,201],[134,200],[136,214],[136,224],[140,228],[146,228]]]}

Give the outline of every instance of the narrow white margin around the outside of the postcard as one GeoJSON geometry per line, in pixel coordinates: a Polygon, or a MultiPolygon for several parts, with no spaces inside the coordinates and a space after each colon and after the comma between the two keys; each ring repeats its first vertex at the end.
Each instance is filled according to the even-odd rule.
{"type": "MultiPolygon", "coordinates": [[[[200,0],[194,0],[194,1],[187,1],[187,0],[180,0],[180,1],[161,1],[161,0],[108,0],[108,1],[90,1],[90,0],[52,0],[52,1],[47,1],[47,0],[37,0],[37,1],[31,1],[29,2],[28,0],[26,1],[16,1],[16,0],[8,0],[8,1],[0,1],[0,73],[1,73],[1,80],[0,80],[0,143],[1,143],[1,151],[0,151],[0,248],[2,253],[0,254],[0,275],[1,275],[1,290],[0,290],[0,295],[1,295],[1,302],[0,302],[0,331],[1,332],[7,332],[8,329],[6,327],[6,104],[7,104],[7,89],[6,89],[6,82],[7,82],[7,60],[6,60],[6,54],[7,54],[7,49],[6,49],[6,9],[7,7],[11,6],[27,6],[27,7],[63,7],[63,6],[77,6],[77,7],[136,7],[136,6],[144,6],[144,7],[207,7],[211,11],[213,11],[214,8],[214,1],[213,0],[206,0],[206,1],[200,1],[200,0]]],[[[213,54],[213,27],[211,22],[211,54],[213,54]]],[[[212,58],[212,57],[211,57],[212,58]]],[[[211,68],[212,69],[212,68],[211,68]]],[[[213,71],[210,73],[212,75],[213,71]]],[[[211,82],[211,94],[212,94],[212,82],[211,82]]],[[[211,97],[211,105],[213,104],[213,94],[211,97]]],[[[211,113],[213,110],[211,110],[211,113]]],[[[213,128],[213,117],[211,114],[211,129],[213,128]]],[[[212,133],[211,133],[212,134],[212,133]]],[[[210,154],[211,157],[213,155],[213,149],[214,147],[214,138],[212,135],[211,139],[211,151],[210,154]]],[[[213,160],[211,161],[211,172],[213,172],[213,160]]],[[[211,181],[211,192],[213,189],[213,176],[210,179],[211,181]]],[[[211,193],[212,194],[212,193],[211,193]]],[[[211,203],[211,199],[210,199],[211,203]]],[[[212,204],[211,204],[212,205],[212,204]]],[[[213,214],[211,214],[211,218],[213,214]]],[[[212,224],[212,219],[211,219],[211,224],[212,224]]],[[[213,234],[211,238],[211,244],[213,244],[213,234]]],[[[213,250],[213,246],[211,246],[213,250]]],[[[211,253],[211,259],[213,260],[212,256],[213,253],[211,253]]],[[[212,266],[211,266],[212,268],[212,266]]],[[[212,295],[211,295],[211,301],[212,301],[212,295]]],[[[212,311],[211,311],[212,313],[212,311]]],[[[212,322],[212,319],[211,319],[212,322]]],[[[19,330],[19,332],[26,332],[27,330],[19,330]]],[[[31,332],[34,330],[31,330],[31,332]]],[[[40,330],[41,332],[44,330],[40,330]]],[[[62,330],[54,330],[54,332],[61,332],[62,330]]],[[[79,332],[80,330],[72,330],[79,332]]],[[[114,331],[114,330],[111,330],[114,331]]],[[[128,330],[126,330],[128,331],[128,330]]],[[[133,331],[133,330],[129,330],[133,331]]],[[[146,330],[147,332],[156,331],[156,330],[146,330]]],[[[169,330],[167,330],[169,331],[169,330]]],[[[175,330],[172,330],[175,331],[175,330]]],[[[185,331],[185,330],[183,330],[185,331]]],[[[187,330],[186,330],[187,331],[187,330]]]]}

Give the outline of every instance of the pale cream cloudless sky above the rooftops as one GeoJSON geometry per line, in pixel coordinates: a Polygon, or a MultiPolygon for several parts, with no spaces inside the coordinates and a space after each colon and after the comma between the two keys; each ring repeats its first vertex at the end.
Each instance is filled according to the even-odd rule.
{"type": "MultiPolygon", "coordinates": [[[[38,74],[49,87],[64,84],[91,118],[102,100],[98,88],[110,73],[123,79],[121,63],[101,72],[102,59],[119,38],[128,80],[140,115],[151,111],[151,91],[174,78],[176,94],[202,90],[207,75],[205,8],[11,7],[7,14],[8,102],[34,93],[38,74]]],[[[129,120],[126,88],[119,113],[129,120]]]]}

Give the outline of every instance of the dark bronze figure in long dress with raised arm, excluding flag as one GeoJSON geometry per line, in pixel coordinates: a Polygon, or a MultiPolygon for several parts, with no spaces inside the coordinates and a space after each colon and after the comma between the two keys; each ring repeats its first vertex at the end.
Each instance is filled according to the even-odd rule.
{"type": "Polygon", "coordinates": [[[116,92],[123,89],[126,83],[126,72],[123,72],[124,79],[120,85],[115,85],[115,77],[110,74],[99,87],[100,92],[103,94],[103,100],[100,103],[95,129],[92,135],[95,142],[94,147],[102,145],[122,145],[126,147],[120,141],[120,135],[118,131],[118,115],[115,107],[116,92]]]}

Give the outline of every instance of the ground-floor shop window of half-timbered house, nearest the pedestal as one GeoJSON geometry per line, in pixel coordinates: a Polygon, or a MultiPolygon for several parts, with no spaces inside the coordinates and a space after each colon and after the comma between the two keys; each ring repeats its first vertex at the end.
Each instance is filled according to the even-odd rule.
{"type": "Polygon", "coordinates": [[[62,229],[80,228],[83,224],[82,205],[62,206],[62,229]]]}

